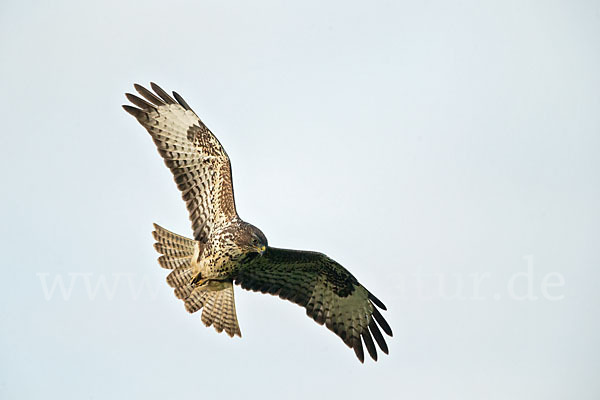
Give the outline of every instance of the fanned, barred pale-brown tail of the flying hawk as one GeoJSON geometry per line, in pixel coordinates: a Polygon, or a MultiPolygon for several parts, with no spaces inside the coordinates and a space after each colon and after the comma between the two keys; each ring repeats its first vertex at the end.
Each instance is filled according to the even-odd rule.
{"type": "Polygon", "coordinates": [[[241,337],[233,282],[211,281],[199,287],[190,284],[194,277],[192,259],[200,254],[202,243],[177,235],[157,224],[154,224],[152,235],[156,240],[154,248],[162,254],[158,258],[160,266],[173,270],[167,276],[167,283],[175,289],[175,296],[184,301],[185,309],[194,313],[203,308],[204,325],[213,325],[217,332],[225,331],[231,337],[241,337]]]}

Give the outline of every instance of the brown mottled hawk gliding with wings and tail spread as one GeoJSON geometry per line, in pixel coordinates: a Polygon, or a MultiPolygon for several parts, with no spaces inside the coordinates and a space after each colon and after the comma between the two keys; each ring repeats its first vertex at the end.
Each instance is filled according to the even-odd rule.
{"type": "Polygon", "coordinates": [[[392,330],[378,307],[385,305],[340,264],[312,251],[271,247],[257,227],[237,214],[231,164],[219,140],[177,93],[151,83],[141,97],[127,93],[123,108],[150,133],[175,178],[192,222],[194,239],[156,224],[152,232],[161,267],[172,270],[167,283],[190,313],[202,310],[202,322],[217,332],[241,337],[233,283],[277,295],[306,309],[306,314],[338,335],[364,362],[364,342],[377,361],[388,353],[381,328],[392,330]],[[362,340],[361,340],[362,339],[362,340]]]}

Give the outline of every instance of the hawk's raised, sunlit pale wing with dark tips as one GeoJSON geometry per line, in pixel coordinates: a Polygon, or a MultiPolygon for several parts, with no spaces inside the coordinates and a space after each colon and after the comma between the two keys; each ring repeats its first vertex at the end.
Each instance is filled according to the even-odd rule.
{"type": "Polygon", "coordinates": [[[158,85],[150,85],[155,93],[134,85],[143,99],[127,93],[137,108],[123,108],[152,136],[182,192],[194,238],[204,242],[215,224],[237,216],[229,157],[180,95],[173,92],[171,97],[158,85]]]}

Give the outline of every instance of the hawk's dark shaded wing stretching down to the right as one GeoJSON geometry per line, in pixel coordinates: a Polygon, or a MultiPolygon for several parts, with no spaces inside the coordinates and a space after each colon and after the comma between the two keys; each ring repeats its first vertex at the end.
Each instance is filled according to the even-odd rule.
{"type": "Polygon", "coordinates": [[[317,323],[325,324],[364,361],[362,341],[374,360],[387,344],[379,330],[392,330],[377,307],[385,306],[358,283],[348,270],[321,253],[269,247],[250,257],[234,272],[234,281],[244,289],[278,295],[304,308],[317,323]],[[377,306],[377,307],[375,307],[377,306]]]}

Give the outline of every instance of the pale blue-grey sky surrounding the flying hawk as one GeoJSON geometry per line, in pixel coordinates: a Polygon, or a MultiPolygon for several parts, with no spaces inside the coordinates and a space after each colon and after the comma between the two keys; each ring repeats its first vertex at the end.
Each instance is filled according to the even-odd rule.
{"type": "Polygon", "coordinates": [[[0,398],[600,398],[597,1],[4,0],[0,54],[0,398]],[[187,212],[120,107],[149,81],[242,218],[386,303],[389,356],[239,287],[242,339],[185,311],[150,232],[187,212]]]}

